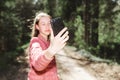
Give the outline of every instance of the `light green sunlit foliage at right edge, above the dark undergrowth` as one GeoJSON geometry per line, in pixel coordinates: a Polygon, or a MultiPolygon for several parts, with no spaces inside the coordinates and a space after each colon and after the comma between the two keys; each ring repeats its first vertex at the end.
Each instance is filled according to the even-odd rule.
{"type": "MultiPolygon", "coordinates": [[[[112,2],[111,2],[112,3],[112,2]]],[[[109,8],[108,7],[111,3],[101,5],[101,7],[104,6],[104,9],[101,11],[101,18],[99,21],[99,42],[100,43],[109,43],[109,42],[117,42],[120,43],[120,29],[119,26],[119,20],[120,20],[120,8],[118,5],[114,4],[114,7],[109,8]],[[117,10],[115,10],[117,8],[117,10]],[[104,11],[103,11],[104,10],[104,11]],[[105,15],[106,16],[105,16],[105,15]],[[105,17],[103,17],[105,16],[105,17]]]]}

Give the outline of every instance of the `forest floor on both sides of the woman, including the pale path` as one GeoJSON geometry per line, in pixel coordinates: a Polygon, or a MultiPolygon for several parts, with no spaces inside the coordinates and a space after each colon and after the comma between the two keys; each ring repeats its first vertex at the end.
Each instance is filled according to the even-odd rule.
{"type": "MultiPolygon", "coordinates": [[[[60,80],[120,80],[120,65],[90,61],[66,46],[56,55],[60,80]]],[[[0,73],[0,80],[27,80],[29,71],[27,54],[17,57],[17,64],[11,65],[6,72],[0,73]]]]}

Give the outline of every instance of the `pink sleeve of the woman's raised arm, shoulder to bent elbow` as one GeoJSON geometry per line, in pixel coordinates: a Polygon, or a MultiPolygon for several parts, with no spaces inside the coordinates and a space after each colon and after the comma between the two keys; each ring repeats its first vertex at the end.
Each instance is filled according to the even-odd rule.
{"type": "Polygon", "coordinates": [[[44,70],[52,59],[47,59],[44,55],[44,50],[42,50],[41,45],[38,40],[32,42],[30,46],[30,63],[36,71],[44,70]]]}

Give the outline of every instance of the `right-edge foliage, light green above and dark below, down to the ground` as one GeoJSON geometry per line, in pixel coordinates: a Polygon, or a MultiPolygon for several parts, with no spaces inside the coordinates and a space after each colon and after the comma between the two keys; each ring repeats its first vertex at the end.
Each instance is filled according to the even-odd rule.
{"type": "Polygon", "coordinates": [[[120,62],[120,7],[113,1],[101,1],[99,19],[99,54],[120,62]]]}

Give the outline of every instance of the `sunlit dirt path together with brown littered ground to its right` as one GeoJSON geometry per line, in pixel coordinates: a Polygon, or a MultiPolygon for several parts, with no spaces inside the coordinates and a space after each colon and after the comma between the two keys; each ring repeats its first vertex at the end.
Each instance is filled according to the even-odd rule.
{"type": "Polygon", "coordinates": [[[91,62],[74,47],[65,47],[56,59],[61,80],[120,80],[120,65],[91,62]]]}

